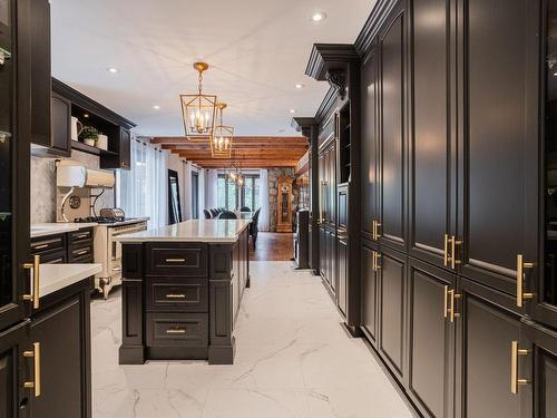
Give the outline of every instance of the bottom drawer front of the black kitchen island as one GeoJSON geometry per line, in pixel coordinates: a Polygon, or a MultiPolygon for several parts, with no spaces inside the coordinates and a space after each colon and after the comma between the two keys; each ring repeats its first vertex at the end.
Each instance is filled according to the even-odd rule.
{"type": "Polygon", "coordinates": [[[148,347],[208,346],[207,313],[147,313],[148,347]]]}

